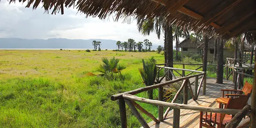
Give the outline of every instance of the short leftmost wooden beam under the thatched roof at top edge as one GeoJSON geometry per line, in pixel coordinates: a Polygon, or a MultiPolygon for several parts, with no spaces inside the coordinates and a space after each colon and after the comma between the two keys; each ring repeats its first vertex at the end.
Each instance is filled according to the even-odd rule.
{"type": "Polygon", "coordinates": [[[178,9],[180,9],[186,2],[188,2],[189,0],[170,0],[167,4],[167,10],[169,11],[169,13],[174,13],[176,12],[178,9]]]}

